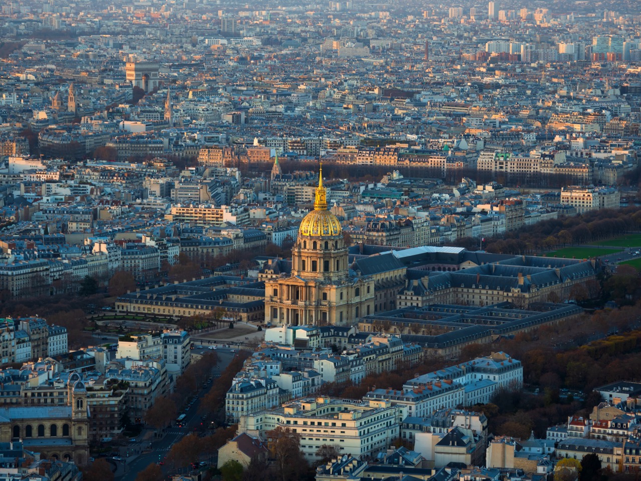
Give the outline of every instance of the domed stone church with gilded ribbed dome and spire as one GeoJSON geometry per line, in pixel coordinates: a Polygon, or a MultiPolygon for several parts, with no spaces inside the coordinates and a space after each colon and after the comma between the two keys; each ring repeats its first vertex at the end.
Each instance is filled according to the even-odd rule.
{"type": "Polygon", "coordinates": [[[316,189],[292,248],[292,271],[265,280],[265,321],[279,325],[352,325],[374,314],[374,280],[349,268],[337,217],[327,208],[327,190],[316,189]]]}

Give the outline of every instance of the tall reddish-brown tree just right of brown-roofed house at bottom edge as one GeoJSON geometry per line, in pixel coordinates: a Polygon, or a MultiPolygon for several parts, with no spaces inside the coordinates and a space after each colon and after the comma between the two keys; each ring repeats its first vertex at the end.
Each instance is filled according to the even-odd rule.
{"type": "Polygon", "coordinates": [[[307,468],[301,452],[301,435],[290,428],[278,426],[267,432],[267,446],[278,478],[282,481],[298,480],[307,468]]]}

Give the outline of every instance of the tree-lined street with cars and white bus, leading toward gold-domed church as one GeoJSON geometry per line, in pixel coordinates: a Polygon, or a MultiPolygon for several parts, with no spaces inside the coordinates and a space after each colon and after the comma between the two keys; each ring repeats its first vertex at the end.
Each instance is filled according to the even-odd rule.
{"type": "MultiPolygon", "coordinates": [[[[229,362],[231,362],[231,359],[233,359],[234,356],[234,353],[231,352],[231,348],[217,348],[217,354],[219,362],[218,366],[213,369],[212,377],[214,383],[217,382],[219,373],[229,366],[229,362]]],[[[121,481],[135,481],[138,473],[149,466],[149,464],[153,464],[161,460],[163,462],[166,461],[165,456],[169,455],[171,447],[180,441],[183,436],[190,432],[194,432],[194,428],[196,428],[196,426],[201,422],[201,414],[198,412],[201,398],[211,387],[212,385],[209,384],[205,389],[201,389],[198,392],[196,402],[186,411],[187,418],[185,418],[186,423],[183,428],[172,426],[165,432],[162,439],[151,441],[151,450],[147,449],[141,455],[131,456],[126,460],[126,462],[116,461],[116,479],[121,481]]],[[[146,443],[149,442],[146,441],[146,443]]],[[[173,471],[171,463],[163,465],[162,470],[165,474],[171,473],[173,471]]]]}

